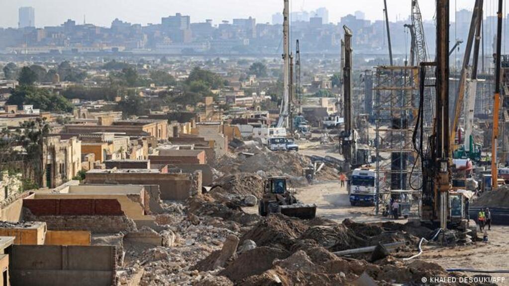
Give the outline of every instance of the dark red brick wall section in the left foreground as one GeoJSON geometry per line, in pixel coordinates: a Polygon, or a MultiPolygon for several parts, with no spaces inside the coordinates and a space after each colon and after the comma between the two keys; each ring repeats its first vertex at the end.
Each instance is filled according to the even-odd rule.
{"type": "Polygon", "coordinates": [[[26,199],[23,207],[34,215],[124,215],[113,199],[26,199]]]}

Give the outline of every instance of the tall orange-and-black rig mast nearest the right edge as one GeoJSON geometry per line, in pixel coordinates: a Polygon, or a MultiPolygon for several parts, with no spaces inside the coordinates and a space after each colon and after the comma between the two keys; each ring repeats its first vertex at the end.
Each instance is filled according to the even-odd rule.
{"type": "Polygon", "coordinates": [[[498,0],[497,12],[497,53],[495,55],[495,94],[493,103],[493,134],[491,146],[491,186],[497,188],[497,140],[498,140],[498,112],[500,109],[500,59],[502,57],[502,0],[498,0]]]}

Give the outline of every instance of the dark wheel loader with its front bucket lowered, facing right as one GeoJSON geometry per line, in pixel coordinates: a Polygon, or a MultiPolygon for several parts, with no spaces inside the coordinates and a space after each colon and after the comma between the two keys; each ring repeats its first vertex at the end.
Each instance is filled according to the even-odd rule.
{"type": "Polygon", "coordinates": [[[300,203],[288,190],[287,177],[269,177],[264,181],[263,198],[258,203],[258,214],[267,216],[281,213],[301,219],[312,219],[316,216],[315,204],[300,203]]]}

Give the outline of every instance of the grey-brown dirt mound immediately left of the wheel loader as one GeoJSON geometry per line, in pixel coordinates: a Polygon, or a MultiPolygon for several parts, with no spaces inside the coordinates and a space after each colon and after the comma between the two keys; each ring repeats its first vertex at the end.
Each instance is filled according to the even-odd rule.
{"type": "Polygon", "coordinates": [[[263,178],[253,173],[230,174],[218,178],[213,183],[214,187],[210,194],[233,195],[245,197],[253,195],[258,199],[263,196],[263,178]]]}

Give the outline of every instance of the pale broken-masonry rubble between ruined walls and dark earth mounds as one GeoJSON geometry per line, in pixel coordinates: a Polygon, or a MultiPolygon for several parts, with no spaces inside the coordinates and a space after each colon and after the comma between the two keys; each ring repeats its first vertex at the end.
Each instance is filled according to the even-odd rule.
{"type": "Polygon", "coordinates": [[[124,242],[121,285],[192,285],[204,277],[191,266],[221,249],[227,237],[240,235],[235,221],[195,215],[178,203],[165,204],[164,209],[156,222],[169,241],[165,246],[124,242]]]}

